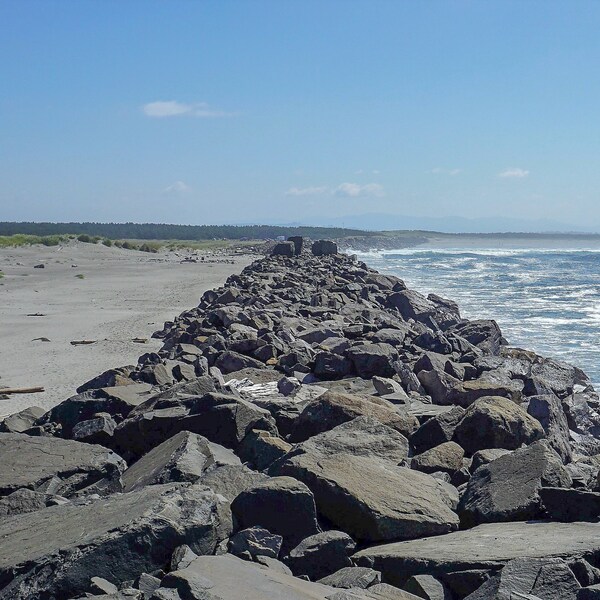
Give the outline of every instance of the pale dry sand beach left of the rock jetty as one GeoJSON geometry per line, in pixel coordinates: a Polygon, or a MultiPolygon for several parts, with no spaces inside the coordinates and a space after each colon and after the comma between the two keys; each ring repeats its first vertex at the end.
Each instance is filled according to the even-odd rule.
{"type": "Polygon", "coordinates": [[[102,371],[135,364],[140,354],[160,348],[150,336],[164,321],[252,261],[207,253],[204,262],[182,263],[190,254],[80,242],[0,249],[0,386],[45,388],[0,399],[0,416],[33,405],[51,408],[102,371]],[[37,313],[43,316],[28,316],[37,313]],[[71,345],[75,340],[97,342],[71,345]]]}

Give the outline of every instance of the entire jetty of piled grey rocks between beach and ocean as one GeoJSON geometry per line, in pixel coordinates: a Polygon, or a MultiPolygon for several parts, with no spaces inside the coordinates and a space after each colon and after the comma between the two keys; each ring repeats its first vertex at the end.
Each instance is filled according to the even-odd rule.
{"type": "Polygon", "coordinates": [[[0,600],[600,597],[579,369],[301,238],[155,336],[0,424],[0,600]]]}

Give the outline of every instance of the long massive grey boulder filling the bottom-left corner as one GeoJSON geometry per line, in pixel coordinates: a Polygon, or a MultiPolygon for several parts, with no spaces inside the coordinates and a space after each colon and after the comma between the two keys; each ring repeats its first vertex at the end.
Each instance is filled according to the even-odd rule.
{"type": "Polygon", "coordinates": [[[74,598],[97,576],[113,584],[151,573],[187,544],[212,554],[229,537],[227,504],[195,486],[148,486],[0,522],[0,599],[74,598]]]}

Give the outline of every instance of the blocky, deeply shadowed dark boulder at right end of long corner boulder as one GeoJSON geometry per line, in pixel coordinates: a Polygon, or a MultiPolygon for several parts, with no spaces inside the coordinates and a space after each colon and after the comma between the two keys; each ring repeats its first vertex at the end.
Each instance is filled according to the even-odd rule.
{"type": "Polygon", "coordinates": [[[284,538],[293,548],[319,532],[315,499],[309,488],[292,477],[274,477],[240,493],[231,504],[239,528],[260,525],[284,538]]]}

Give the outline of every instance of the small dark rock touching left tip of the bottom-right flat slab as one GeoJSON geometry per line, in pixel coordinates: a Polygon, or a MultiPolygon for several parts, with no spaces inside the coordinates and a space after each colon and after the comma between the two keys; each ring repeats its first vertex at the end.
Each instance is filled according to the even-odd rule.
{"type": "Polygon", "coordinates": [[[354,540],[343,531],[324,531],[303,539],[290,551],[286,562],[294,575],[317,580],[350,567],[349,556],[355,547],[354,540]]]}

